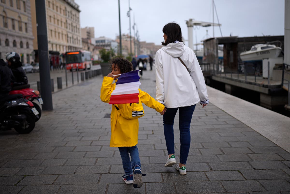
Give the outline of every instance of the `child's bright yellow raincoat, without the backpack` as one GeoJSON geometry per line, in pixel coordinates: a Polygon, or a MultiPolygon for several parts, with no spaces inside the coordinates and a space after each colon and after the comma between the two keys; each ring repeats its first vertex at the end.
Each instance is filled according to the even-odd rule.
{"type": "MultiPolygon", "coordinates": [[[[104,77],[101,88],[101,100],[105,103],[110,102],[110,97],[116,84],[113,83],[114,78],[104,77]]],[[[116,80],[117,81],[117,80],[116,80]]],[[[139,89],[139,98],[146,106],[155,109],[157,112],[162,112],[164,105],[157,102],[149,94],[139,89]]],[[[117,107],[122,108],[122,104],[117,107]]],[[[111,140],[110,147],[131,147],[138,143],[138,119],[128,120],[121,116],[116,107],[112,105],[111,112],[111,140]]]]}

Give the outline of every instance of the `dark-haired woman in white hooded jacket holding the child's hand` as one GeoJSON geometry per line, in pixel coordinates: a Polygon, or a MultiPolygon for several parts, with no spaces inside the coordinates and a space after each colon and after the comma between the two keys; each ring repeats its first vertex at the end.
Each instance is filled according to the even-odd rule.
{"type": "Polygon", "coordinates": [[[175,166],[186,174],[186,160],[190,147],[190,123],[195,105],[202,108],[209,103],[200,64],[191,48],[182,42],[181,28],[176,23],[163,27],[163,45],[155,55],[156,100],[165,105],[163,128],[168,157],[165,167],[175,166]],[[180,161],[174,155],[173,123],[179,109],[180,161]]]}

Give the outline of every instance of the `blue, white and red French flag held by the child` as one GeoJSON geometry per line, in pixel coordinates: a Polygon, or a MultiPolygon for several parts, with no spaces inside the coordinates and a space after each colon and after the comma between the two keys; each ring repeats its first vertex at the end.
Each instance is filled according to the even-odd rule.
{"type": "Polygon", "coordinates": [[[122,73],[117,79],[116,88],[112,92],[109,104],[127,104],[139,102],[139,70],[122,73]]]}

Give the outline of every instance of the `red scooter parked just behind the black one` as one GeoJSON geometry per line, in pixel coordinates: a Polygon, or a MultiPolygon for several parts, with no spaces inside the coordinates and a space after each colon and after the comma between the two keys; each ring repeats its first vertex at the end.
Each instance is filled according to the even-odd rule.
{"type": "Polygon", "coordinates": [[[37,100],[40,105],[43,104],[42,98],[39,96],[39,91],[30,88],[30,84],[15,86],[9,92],[9,94],[22,94],[23,98],[30,100],[33,103],[33,106],[36,108],[39,114],[35,116],[35,122],[38,121],[41,117],[41,108],[35,101],[37,100]]]}

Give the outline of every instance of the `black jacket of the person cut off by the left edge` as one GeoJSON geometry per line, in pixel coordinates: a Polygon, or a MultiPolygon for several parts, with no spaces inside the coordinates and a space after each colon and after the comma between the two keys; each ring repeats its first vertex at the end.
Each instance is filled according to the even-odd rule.
{"type": "Polygon", "coordinates": [[[0,60],[0,95],[6,95],[11,91],[11,82],[13,80],[11,69],[4,62],[0,60]]]}

